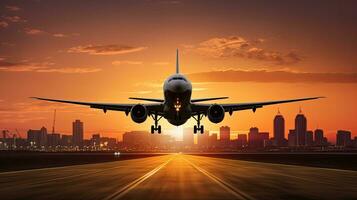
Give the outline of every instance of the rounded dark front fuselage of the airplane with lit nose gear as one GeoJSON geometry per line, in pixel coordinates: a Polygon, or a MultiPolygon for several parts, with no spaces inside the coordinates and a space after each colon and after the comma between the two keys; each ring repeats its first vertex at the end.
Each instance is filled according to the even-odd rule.
{"type": "Polygon", "coordinates": [[[164,118],[179,126],[191,118],[192,84],[182,74],[173,74],[164,82],[164,118]]]}

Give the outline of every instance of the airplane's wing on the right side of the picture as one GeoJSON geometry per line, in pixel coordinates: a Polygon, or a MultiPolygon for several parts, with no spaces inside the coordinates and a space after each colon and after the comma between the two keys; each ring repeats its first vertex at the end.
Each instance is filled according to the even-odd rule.
{"type": "MultiPolygon", "coordinates": [[[[229,112],[229,114],[232,114],[233,111],[238,111],[238,110],[252,109],[253,112],[255,112],[255,110],[257,108],[262,108],[263,106],[267,106],[267,105],[290,103],[290,102],[296,102],[296,101],[307,101],[307,100],[314,100],[314,99],[320,99],[320,98],[324,98],[324,97],[309,97],[309,98],[300,98],[300,99],[264,101],[264,102],[253,102],[253,103],[229,103],[229,104],[219,104],[219,105],[221,105],[224,108],[225,112],[229,112]]],[[[193,115],[206,114],[208,108],[211,105],[212,104],[192,104],[193,115]]]]}

